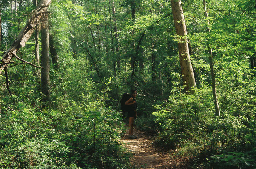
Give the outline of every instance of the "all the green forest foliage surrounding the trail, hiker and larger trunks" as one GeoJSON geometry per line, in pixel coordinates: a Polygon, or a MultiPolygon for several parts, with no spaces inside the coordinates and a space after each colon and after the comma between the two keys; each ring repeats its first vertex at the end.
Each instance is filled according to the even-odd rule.
{"type": "MultiPolygon", "coordinates": [[[[0,168],[130,168],[118,111],[122,94],[134,88],[136,125],[156,145],[176,149],[191,168],[255,168],[255,1],[209,0],[205,17],[201,0],[182,0],[194,95],[184,94],[170,1],[135,0],[135,19],[130,0],[115,1],[115,14],[112,2],[52,2],[49,31],[60,67],[51,65],[49,107],[42,109],[37,68],[12,59],[12,96],[2,72],[0,168]],[[221,117],[214,115],[210,48],[221,117]]],[[[35,7],[0,4],[2,56],[35,7]]],[[[32,35],[16,54],[35,63],[34,50],[32,35]]]]}

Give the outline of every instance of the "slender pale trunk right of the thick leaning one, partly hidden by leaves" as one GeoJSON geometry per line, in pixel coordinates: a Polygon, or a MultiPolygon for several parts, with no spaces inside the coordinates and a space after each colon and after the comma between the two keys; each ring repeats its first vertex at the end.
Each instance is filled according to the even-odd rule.
{"type": "MultiPolygon", "coordinates": [[[[208,13],[206,10],[206,0],[203,0],[203,6],[204,6],[204,14],[206,17],[208,17],[208,13]]],[[[208,21],[208,25],[210,25],[209,21],[208,21]]],[[[209,28],[207,28],[207,31],[210,33],[209,28]]],[[[212,74],[212,93],[213,93],[214,106],[215,106],[215,115],[220,116],[220,108],[219,108],[219,102],[218,102],[217,92],[216,92],[216,79],[215,79],[215,73],[214,73],[214,67],[213,67],[212,48],[210,45],[209,45],[209,63],[210,63],[210,69],[212,74]]]]}

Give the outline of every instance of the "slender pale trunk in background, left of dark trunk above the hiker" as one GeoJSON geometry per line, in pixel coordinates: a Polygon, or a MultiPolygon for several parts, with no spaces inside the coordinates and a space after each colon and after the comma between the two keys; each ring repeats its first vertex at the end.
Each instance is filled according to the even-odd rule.
{"type": "Polygon", "coordinates": [[[115,1],[114,0],[113,0],[112,12],[113,12],[114,33],[115,33],[115,39],[116,39],[116,45],[115,46],[116,46],[116,54],[117,54],[117,69],[118,69],[118,71],[120,71],[121,64],[120,64],[119,44],[118,44],[119,34],[117,33],[116,7],[115,7],[115,1]]]}

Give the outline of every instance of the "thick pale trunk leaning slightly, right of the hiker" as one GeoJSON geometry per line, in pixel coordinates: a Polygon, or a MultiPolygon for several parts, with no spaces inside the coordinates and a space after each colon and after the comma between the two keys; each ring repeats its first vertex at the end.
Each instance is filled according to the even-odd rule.
{"type": "Polygon", "coordinates": [[[187,29],[181,6],[181,0],[171,0],[171,6],[176,34],[179,36],[178,49],[182,78],[186,85],[186,91],[193,94],[194,90],[191,90],[191,88],[196,87],[196,82],[189,55],[188,42],[186,38],[187,29]]]}

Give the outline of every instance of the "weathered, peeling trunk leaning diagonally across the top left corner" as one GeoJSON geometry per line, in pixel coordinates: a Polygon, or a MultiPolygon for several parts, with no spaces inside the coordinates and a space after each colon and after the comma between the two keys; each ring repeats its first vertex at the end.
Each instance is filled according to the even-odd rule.
{"type": "MultiPolygon", "coordinates": [[[[24,47],[28,39],[34,32],[35,26],[42,21],[42,16],[47,12],[48,6],[50,5],[51,0],[41,0],[36,10],[33,10],[31,13],[31,18],[26,23],[25,27],[19,33],[16,40],[12,43],[11,47],[3,54],[3,59],[1,60],[2,64],[0,70],[3,70],[10,63],[12,57],[16,55],[16,52],[19,48],[24,47]]],[[[1,74],[2,71],[0,71],[1,74]]]]}

